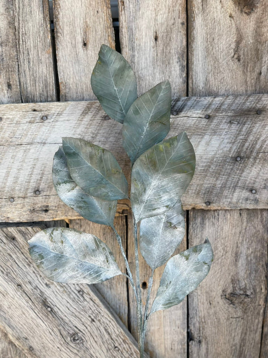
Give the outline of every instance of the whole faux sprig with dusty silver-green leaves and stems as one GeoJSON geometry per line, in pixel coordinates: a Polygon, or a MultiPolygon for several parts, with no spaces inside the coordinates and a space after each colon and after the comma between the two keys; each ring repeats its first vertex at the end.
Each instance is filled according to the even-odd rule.
{"type": "Polygon", "coordinates": [[[43,230],[29,241],[29,250],[40,270],[54,281],[92,284],[125,274],[137,301],[139,350],[143,357],[150,315],[182,302],[205,278],[213,261],[208,240],[170,258],[185,235],[181,197],[194,175],[195,153],[185,132],[164,139],[171,108],[168,81],[137,98],[137,83],[129,63],[102,45],[91,84],[105,112],[123,123],[123,146],[132,164],[130,200],[136,279],[114,227],[117,200],[129,198],[127,180],[111,152],[83,139],[62,138],[62,147],[53,162],[54,187],[61,200],[83,218],[114,230],[126,273],[120,271],[102,240],[73,229],[43,230]],[[145,307],[141,302],[138,250],[151,267],[145,307]],[[156,297],[149,307],[154,270],[165,263],[156,297]]]}

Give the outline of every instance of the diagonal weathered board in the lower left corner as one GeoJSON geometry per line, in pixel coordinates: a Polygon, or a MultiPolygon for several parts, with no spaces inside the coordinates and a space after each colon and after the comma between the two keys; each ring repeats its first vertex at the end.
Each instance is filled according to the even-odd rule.
{"type": "Polygon", "coordinates": [[[127,330],[87,285],[64,285],[40,274],[26,242],[39,230],[0,229],[1,329],[26,356],[138,356],[127,330]]]}

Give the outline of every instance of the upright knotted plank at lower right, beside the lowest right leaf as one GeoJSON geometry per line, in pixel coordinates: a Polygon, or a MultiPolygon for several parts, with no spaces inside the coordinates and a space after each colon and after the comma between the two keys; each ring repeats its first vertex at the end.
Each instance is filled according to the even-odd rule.
{"type": "Polygon", "coordinates": [[[189,296],[190,357],[259,356],[266,296],[267,210],[191,210],[189,245],[214,262],[189,296]]]}

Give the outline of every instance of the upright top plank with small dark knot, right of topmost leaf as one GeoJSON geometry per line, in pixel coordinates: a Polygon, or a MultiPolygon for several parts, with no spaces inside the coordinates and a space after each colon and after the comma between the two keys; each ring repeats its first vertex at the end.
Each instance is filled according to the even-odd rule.
{"type": "Polygon", "coordinates": [[[169,80],[186,96],[186,1],[120,0],[121,53],[137,77],[138,94],[169,80]]]}

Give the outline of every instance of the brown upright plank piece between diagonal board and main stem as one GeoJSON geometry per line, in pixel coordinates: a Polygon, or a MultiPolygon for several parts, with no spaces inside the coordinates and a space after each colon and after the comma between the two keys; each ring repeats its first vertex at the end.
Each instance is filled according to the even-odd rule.
{"type": "MultiPolygon", "coordinates": [[[[115,219],[115,228],[122,238],[123,247],[126,248],[126,219],[125,216],[119,216],[115,219]]],[[[91,223],[87,220],[70,220],[70,228],[96,235],[103,240],[114,253],[116,262],[122,272],[126,272],[125,261],[118,249],[113,230],[106,225],[91,223]]],[[[127,278],[125,276],[115,276],[105,282],[97,283],[96,289],[102,297],[109,303],[113,311],[118,315],[121,321],[128,326],[128,295],[127,278]]]]}

